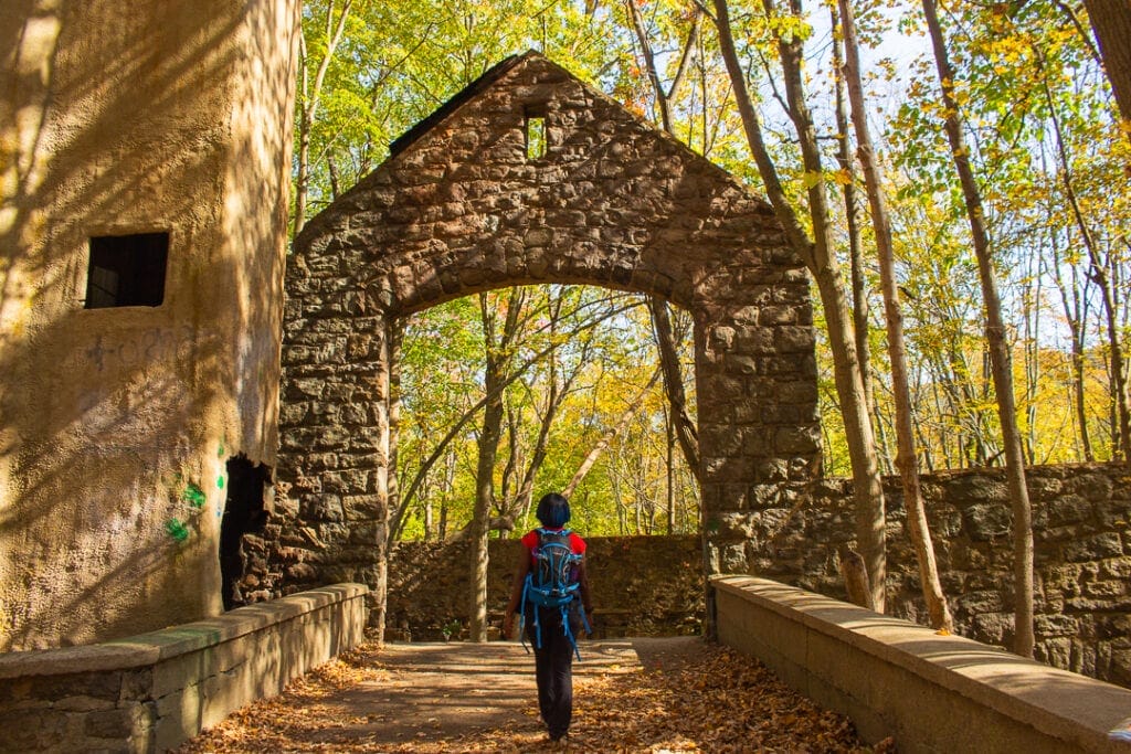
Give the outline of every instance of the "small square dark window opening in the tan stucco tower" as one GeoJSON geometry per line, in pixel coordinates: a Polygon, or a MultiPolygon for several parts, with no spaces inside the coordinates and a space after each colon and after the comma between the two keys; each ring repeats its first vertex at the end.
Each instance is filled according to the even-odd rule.
{"type": "Polygon", "coordinates": [[[161,306],[167,260],[169,233],[90,239],[86,307],[161,306]]]}

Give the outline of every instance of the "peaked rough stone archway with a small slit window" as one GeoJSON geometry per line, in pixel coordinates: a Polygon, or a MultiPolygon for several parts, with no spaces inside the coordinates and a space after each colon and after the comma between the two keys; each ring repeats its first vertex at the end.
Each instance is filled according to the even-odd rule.
{"type": "Polygon", "coordinates": [[[284,591],[374,589],[383,624],[389,326],[480,291],[575,283],[696,322],[705,569],[749,572],[819,473],[808,275],[769,206],[536,53],[487,71],[295,240],[286,279],[284,591]],[[527,148],[533,120],[545,153],[527,148]]]}

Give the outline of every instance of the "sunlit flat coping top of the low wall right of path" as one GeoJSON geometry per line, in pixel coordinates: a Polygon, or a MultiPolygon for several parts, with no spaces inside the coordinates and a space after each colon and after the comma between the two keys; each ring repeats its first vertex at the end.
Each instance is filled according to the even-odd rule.
{"type": "MultiPolygon", "coordinates": [[[[719,575],[710,583],[880,662],[903,667],[955,699],[972,700],[1069,746],[1131,751],[1131,746],[1107,737],[1131,716],[1131,691],[1126,688],[768,579],[719,575]]],[[[853,690],[840,691],[852,694],[853,690]]],[[[904,730],[922,726],[922,720],[901,722],[904,730]]]]}

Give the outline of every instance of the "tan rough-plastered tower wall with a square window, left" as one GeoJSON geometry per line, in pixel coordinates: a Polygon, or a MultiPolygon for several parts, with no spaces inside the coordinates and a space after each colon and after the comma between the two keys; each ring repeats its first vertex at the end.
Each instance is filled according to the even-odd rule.
{"type": "Polygon", "coordinates": [[[222,609],[225,460],[278,442],[297,12],[0,2],[0,651],[222,609]],[[164,303],[84,309],[88,240],[159,231],[164,303]]]}

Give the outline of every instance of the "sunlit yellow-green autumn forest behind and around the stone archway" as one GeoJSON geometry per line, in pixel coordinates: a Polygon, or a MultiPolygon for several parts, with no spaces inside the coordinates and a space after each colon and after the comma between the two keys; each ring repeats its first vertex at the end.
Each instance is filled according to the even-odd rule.
{"type": "MultiPolygon", "coordinates": [[[[718,5],[307,0],[294,232],[374,170],[394,139],[528,49],[765,194],[713,23],[718,5]]],[[[865,0],[853,10],[890,211],[918,465],[1001,466],[978,265],[944,130],[955,107],[944,104],[923,6],[865,0]]],[[[998,275],[1025,461],[1119,458],[1131,133],[1121,130],[1086,9],[953,0],[939,11],[953,69],[947,86],[964,116],[998,275]]],[[[858,332],[880,470],[893,474],[877,241],[853,159],[836,3],[732,2],[729,21],[785,198],[804,206],[818,183],[831,198],[832,253],[858,332]],[[819,171],[798,144],[784,38],[802,51],[819,171]]],[[[847,476],[834,345],[815,291],[813,300],[824,473],[847,476]]],[[[687,313],[627,292],[530,286],[428,310],[402,322],[400,336],[396,538],[459,536],[484,495],[500,536],[521,532],[532,502],[561,489],[588,535],[698,530],[687,313]]]]}

